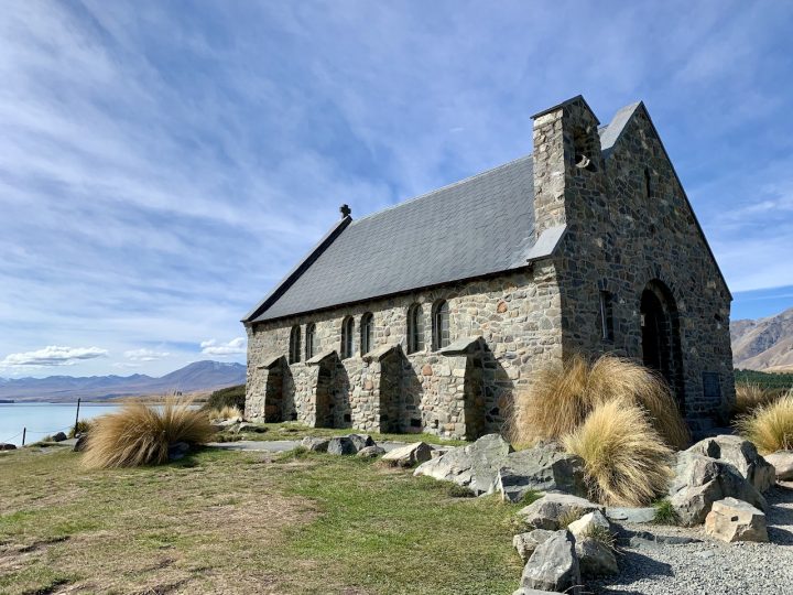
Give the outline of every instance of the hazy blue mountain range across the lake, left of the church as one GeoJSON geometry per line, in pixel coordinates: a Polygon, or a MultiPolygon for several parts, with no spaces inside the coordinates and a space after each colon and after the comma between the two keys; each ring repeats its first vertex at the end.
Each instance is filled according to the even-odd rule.
{"type": "Polygon", "coordinates": [[[171,394],[175,391],[196,392],[240,385],[246,381],[246,367],[221,361],[195,361],[152,378],[132,376],[48,376],[46,378],[0,378],[0,399],[14,401],[75,401],[77,398],[105,400],[116,397],[171,394]]]}

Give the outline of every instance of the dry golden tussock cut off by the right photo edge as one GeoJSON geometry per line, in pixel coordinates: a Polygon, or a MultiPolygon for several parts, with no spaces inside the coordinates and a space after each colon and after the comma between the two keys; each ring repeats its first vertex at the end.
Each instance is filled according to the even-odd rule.
{"type": "Polygon", "coordinates": [[[743,437],[754,443],[761,454],[792,450],[793,390],[738,418],[736,426],[743,437]]]}

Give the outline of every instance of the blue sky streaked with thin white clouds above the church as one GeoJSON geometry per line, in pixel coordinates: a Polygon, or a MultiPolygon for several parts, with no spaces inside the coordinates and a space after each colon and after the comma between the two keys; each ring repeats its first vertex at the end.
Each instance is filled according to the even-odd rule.
{"type": "Polygon", "coordinates": [[[337,219],[645,101],[735,293],[793,306],[791,2],[39,2],[0,11],[0,376],[245,360],[337,219]]]}

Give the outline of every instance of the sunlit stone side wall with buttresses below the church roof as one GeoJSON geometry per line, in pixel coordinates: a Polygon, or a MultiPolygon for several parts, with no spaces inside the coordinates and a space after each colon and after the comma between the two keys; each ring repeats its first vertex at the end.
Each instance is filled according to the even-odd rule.
{"type": "MultiPolygon", "coordinates": [[[[246,414],[264,416],[267,366],[289,353],[293,325],[316,324],[315,353],[340,351],[341,322],[355,318],[354,357],[329,357],[329,397],[333,425],[380,431],[430,432],[449,437],[476,437],[499,431],[515,391],[529,383],[532,371],[561,357],[561,304],[556,272],[551,263],[491,279],[458,282],[366,304],[260,323],[248,327],[248,398],[246,414]],[[431,310],[437,300],[449,305],[450,340],[481,337],[469,355],[443,355],[431,348],[431,310]],[[425,348],[406,354],[406,313],[422,304],[425,348]],[[377,360],[359,353],[360,318],[374,316],[372,351],[399,345],[391,357],[377,360]],[[399,374],[398,377],[395,375],[399,374]],[[399,402],[393,402],[399,383],[399,402]],[[390,400],[389,400],[390,399],[390,400]],[[384,407],[381,407],[381,402],[384,407]],[[398,411],[398,421],[393,421],[398,411]],[[383,414],[385,413],[385,423],[383,414]],[[467,420],[472,420],[468,425],[467,420]],[[394,425],[395,424],[395,425],[394,425]]],[[[304,348],[304,346],[302,346],[304,348]]],[[[284,419],[315,425],[319,365],[305,358],[284,364],[283,402],[293,403],[284,419]]],[[[281,361],[285,361],[282,359],[281,361]]]]}

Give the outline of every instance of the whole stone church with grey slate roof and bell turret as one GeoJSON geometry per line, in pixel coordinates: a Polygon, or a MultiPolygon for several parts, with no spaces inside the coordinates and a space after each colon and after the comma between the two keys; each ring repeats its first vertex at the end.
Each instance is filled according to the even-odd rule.
{"type": "Polygon", "coordinates": [[[476,439],[539,368],[636,358],[692,423],[735,398],[731,295],[643,104],[578,96],[533,152],[341,218],[246,315],[246,415],[476,439]]]}

